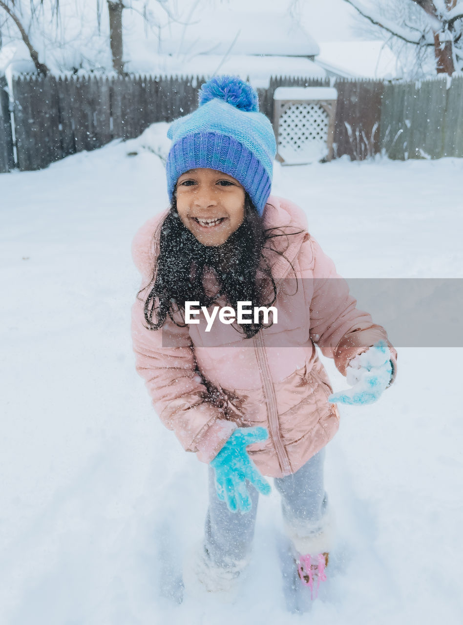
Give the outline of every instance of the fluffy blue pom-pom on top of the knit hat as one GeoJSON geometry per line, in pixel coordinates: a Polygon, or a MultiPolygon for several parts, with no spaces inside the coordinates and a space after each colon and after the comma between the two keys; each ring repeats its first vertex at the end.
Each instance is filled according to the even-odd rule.
{"type": "Polygon", "coordinates": [[[256,91],[237,76],[215,76],[204,83],[199,92],[199,106],[214,99],[223,100],[241,111],[259,112],[256,91]]]}

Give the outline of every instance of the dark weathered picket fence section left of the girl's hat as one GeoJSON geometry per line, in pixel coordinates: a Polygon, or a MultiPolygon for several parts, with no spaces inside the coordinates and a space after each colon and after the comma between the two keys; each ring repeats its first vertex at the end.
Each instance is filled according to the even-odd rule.
{"type": "MultiPolygon", "coordinates": [[[[199,83],[201,84],[201,83],[199,83]]],[[[17,166],[41,169],[68,154],[131,139],[196,107],[191,80],[18,77],[12,85],[17,166]]]]}

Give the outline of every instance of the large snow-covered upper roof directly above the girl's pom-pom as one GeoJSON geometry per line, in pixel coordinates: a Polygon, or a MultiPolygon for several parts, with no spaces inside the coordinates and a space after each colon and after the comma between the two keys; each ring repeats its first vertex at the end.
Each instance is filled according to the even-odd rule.
{"type": "MultiPolygon", "coordinates": [[[[167,31],[167,29],[166,29],[167,31]]],[[[314,56],[315,39],[289,12],[244,12],[233,6],[209,11],[187,26],[162,33],[162,54],[272,54],[314,56]]]]}

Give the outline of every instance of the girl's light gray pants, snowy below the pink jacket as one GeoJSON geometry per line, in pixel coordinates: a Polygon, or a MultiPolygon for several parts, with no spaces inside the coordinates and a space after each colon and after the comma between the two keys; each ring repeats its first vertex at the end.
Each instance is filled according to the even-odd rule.
{"type": "MultiPolygon", "coordinates": [[[[281,494],[285,526],[289,534],[309,537],[319,534],[327,512],[327,495],[323,486],[322,449],[304,466],[286,477],[276,477],[274,484],[281,494]]],[[[240,569],[246,565],[251,552],[256,524],[259,493],[247,482],[252,509],[246,514],[231,512],[217,498],[214,469],[209,467],[209,509],[206,517],[204,546],[212,564],[240,569]]]]}

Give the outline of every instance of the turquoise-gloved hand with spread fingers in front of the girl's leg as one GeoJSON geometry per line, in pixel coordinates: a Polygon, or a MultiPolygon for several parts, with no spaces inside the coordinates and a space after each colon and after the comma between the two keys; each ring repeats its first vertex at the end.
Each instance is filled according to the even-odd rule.
{"type": "Polygon", "coordinates": [[[269,482],[257,471],[246,451],[248,445],[265,441],[268,436],[265,427],[239,427],[211,461],[216,471],[217,497],[226,502],[231,512],[251,510],[246,480],[263,495],[271,491],[269,482]]]}

